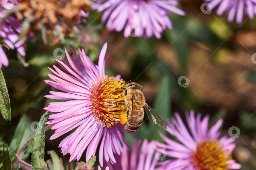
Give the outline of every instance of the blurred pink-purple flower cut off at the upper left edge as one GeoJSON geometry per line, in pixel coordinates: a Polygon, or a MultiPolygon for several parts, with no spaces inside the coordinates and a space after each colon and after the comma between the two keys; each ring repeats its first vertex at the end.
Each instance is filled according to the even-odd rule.
{"type": "MultiPolygon", "coordinates": [[[[2,9],[11,9],[15,5],[15,1],[0,1],[0,38],[3,39],[4,43],[10,48],[16,50],[22,55],[25,56],[25,49],[24,49],[24,41],[19,40],[18,33],[21,33],[21,24],[19,21],[12,17],[6,16],[1,12],[2,9]],[[2,6],[3,5],[3,6],[2,6]]],[[[0,43],[1,44],[1,43],[0,43]]],[[[0,46],[0,68],[2,65],[8,66],[9,61],[5,52],[3,51],[2,44],[0,46]]]]}

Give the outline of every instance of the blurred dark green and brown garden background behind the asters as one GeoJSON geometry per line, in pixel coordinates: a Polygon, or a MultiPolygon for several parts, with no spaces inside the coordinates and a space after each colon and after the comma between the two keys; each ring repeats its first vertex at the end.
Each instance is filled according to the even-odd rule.
{"type": "MultiPolygon", "coordinates": [[[[81,30],[88,26],[84,31],[65,38],[61,44],[44,44],[37,33],[35,42],[26,42],[26,58],[17,59],[12,51],[8,56],[9,67],[2,69],[9,90],[12,121],[0,119],[0,144],[10,143],[28,108],[28,119],[24,116],[23,119],[30,126],[28,122],[39,122],[45,112],[42,108],[53,101],[43,95],[50,89],[44,82],[49,79],[47,73],[51,73],[47,67],[57,64],[53,55],[56,48],[66,47],[70,53],[69,44],[76,50],[83,48],[97,64],[99,52],[107,42],[107,75],[121,74],[125,81],[140,83],[147,103],[164,119],[171,118],[175,111],[185,118],[186,111],[194,110],[210,114],[211,125],[221,118],[222,135],[228,136],[230,127],[238,127],[241,133],[235,141],[234,158],[242,164],[242,169],[256,169],[256,63],[252,60],[256,53],[256,19],[246,20],[242,25],[228,23],[226,15],[217,16],[215,10],[204,14],[200,5],[197,1],[182,0],[186,16],[171,14],[174,29],[165,31],[160,40],[124,38],[123,32],[108,32],[95,12],[90,12],[88,20],[78,25],[81,30]],[[189,79],[187,87],[179,85],[180,76],[189,79]]],[[[186,80],[180,82],[186,83],[186,80]]],[[[146,121],[136,132],[137,136],[126,133],[125,139],[130,146],[135,138],[161,141],[159,130],[166,134],[146,121]]],[[[61,156],[56,148],[64,137],[50,141],[53,132],[46,132],[45,150],[55,150],[61,156]]],[[[46,160],[50,158],[45,156],[46,160]]],[[[62,158],[64,164],[68,163],[69,156],[62,158]]]]}

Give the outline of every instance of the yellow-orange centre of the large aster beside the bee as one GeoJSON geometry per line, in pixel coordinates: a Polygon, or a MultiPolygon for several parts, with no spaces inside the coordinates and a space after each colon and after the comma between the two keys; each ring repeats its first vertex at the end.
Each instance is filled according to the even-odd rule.
{"type": "Polygon", "coordinates": [[[123,91],[117,89],[126,86],[123,79],[116,80],[115,77],[102,76],[90,87],[93,113],[97,122],[102,123],[103,127],[116,124],[120,121],[120,115],[126,112],[126,106],[120,104],[124,102],[123,91]]]}

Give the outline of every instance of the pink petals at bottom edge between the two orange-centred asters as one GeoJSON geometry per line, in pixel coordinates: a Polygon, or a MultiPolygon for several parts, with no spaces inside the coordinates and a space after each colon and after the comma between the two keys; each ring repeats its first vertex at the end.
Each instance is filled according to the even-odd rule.
{"type": "Polygon", "coordinates": [[[116,155],[117,163],[112,165],[107,162],[107,167],[110,170],[153,170],[158,162],[155,149],[155,141],[149,143],[145,139],[141,145],[141,140],[135,140],[131,153],[123,147],[123,153],[120,156],[116,155]]]}

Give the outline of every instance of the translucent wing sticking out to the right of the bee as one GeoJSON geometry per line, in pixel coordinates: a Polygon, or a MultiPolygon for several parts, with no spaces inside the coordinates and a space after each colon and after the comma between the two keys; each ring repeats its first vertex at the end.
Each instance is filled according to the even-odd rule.
{"type": "Polygon", "coordinates": [[[165,121],[162,119],[162,117],[160,115],[158,115],[156,113],[156,111],[154,109],[152,109],[152,107],[150,107],[146,102],[144,105],[144,109],[145,109],[145,112],[146,112],[149,120],[152,123],[158,124],[159,126],[167,129],[167,125],[166,125],[165,121]]]}

